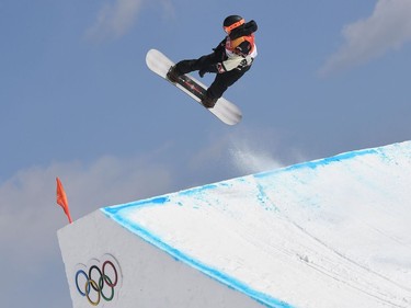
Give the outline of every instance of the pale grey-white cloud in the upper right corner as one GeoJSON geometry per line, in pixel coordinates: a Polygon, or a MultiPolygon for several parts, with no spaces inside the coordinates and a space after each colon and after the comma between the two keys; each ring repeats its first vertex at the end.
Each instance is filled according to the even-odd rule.
{"type": "Polygon", "coordinates": [[[343,46],[320,69],[327,75],[398,49],[411,41],[411,1],[379,0],[373,14],[342,30],[343,46]]]}

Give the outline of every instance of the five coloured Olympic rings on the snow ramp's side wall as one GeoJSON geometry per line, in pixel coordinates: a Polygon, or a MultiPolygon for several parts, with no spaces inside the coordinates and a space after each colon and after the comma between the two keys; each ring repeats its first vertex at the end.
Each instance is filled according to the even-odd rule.
{"type": "Polygon", "coordinates": [[[77,292],[92,306],[98,306],[103,300],[112,301],[115,288],[121,286],[122,275],[118,263],[110,254],[104,255],[103,260],[105,261],[101,266],[99,260],[91,260],[90,266],[78,264],[81,269],[76,272],[77,292]]]}

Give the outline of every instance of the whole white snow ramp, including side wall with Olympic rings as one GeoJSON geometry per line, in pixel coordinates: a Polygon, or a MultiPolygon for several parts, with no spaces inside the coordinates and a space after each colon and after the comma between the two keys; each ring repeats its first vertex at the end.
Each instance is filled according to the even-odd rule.
{"type": "Polygon", "coordinates": [[[411,141],[110,206],[58,231],[73,307],[411,307],[411,141]]]}

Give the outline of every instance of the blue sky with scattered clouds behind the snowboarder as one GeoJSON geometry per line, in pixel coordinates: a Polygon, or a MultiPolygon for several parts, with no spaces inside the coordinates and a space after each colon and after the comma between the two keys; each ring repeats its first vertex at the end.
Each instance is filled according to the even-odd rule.
{"type": "MultiPolygon", "coordinates": [[[[0,289],[4,307],[70,307],[55,178],[80,218],[112,204],[408,140],[411,2],[0,2],[0,289]],[[219,123],[145,64],[207,54],[229,14],[259,57],[219,123]],[[21,298],[21,294],[27,296],[21,298]]],[[[209,84],[212,76],[204,82],[209,84]]]]}

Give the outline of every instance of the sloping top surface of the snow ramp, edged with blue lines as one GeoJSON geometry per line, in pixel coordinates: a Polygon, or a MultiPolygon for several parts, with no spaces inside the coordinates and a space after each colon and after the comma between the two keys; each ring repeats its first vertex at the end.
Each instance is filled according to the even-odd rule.
{"type": "Polygon", "coordinates": [[[266,307],[411,307],[411,141],[102,208],[266,307]]]}

